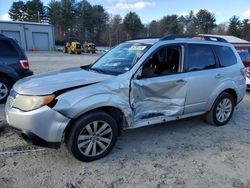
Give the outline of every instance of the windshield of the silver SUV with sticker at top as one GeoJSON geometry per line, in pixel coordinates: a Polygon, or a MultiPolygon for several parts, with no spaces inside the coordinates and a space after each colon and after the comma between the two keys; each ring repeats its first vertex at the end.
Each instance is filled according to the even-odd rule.
{"type": "Polygon", "coordinates": [[[118,75],[130,70],[151,45],[122,43],[93,64],[89,70],[118,75]]]}

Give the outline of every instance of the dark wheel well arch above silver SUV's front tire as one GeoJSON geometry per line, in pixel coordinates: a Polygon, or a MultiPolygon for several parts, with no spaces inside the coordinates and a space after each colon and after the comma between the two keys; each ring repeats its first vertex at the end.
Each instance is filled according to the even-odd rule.
{"type": "MultiPolygon", "coordinates": [[[[123,118],[124,118],[124,114],[123,112],[119,109],[119,108],[115,108],[115,107],[112,107],[112,106],[103,106],[103,107],[100,107],[100,108],[95,108],[93,110],[90,110],[84,114],[82,114],[81,116],[83,115],[86,115],[86,114],[89,114],[89,113],[92,113],[92,112],[95,112],[95,111],[102,111],[102,112],[106,112],[107,114],[109,114],[111,117],[113,117],[117,123],[117,126],[118,126],[118,135],[121,135],[121,131],[122,131],[122,128],[123,128],[123,118]]],[[[79,118],[79,117],[78,117],[79,118]]],[[[65,129],[65,137],[67,137],[67,135],[69,134],[70,130],[72,129],[72,124],[78,119],[72,119],[70,121],[70,123],[67,125],[66,129],[65,129]]]]}

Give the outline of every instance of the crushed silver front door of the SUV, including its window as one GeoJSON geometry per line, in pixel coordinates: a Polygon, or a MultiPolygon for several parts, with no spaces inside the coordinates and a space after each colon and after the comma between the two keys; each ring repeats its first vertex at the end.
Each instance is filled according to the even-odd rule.
{"type": "Polygon", "coordinates": [[[154,52],[131,80],[132,127],[161,123],[183,114],[187,81],[183,74],[184,46],[154,52]]]}

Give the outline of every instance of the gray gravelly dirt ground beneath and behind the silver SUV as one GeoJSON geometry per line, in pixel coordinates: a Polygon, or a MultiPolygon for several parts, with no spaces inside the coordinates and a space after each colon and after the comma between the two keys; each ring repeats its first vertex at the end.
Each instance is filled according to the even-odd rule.
{"type": "MultiPolygon", "coordinates": [[[[93,62],[98,55],[28,54],[35,73],[93,62]]],[[[113,151],[91,163],[27,145],[6,127],[0,105],[0,188],[250,187],[250,93],[223,127],[202,117],[124,131],[113,151]]]]}

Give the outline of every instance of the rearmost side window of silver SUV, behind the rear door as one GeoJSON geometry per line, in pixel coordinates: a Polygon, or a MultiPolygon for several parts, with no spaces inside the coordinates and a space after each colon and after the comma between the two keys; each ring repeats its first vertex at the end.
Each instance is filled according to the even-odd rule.
{"type": "Polygon", "coordinates": [[[227,46],[214,46],[215,52],[218,55],[220,66],[228,67],[237,63],[234,52],[227,46]]]}

